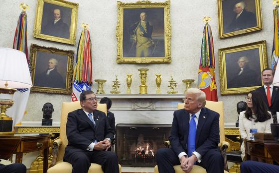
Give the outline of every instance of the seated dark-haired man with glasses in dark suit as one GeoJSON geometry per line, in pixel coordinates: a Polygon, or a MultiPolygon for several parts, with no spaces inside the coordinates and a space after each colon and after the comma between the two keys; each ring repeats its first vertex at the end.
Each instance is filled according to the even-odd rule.
{"type": "Polygon", "coordinates": [[[91,163],[102,165],[104,173],[119,173],[117,156],[107,151],[114,133],[105,113],[96,110],[97,99],[92,91],[84,91],[82,109],[68,114],[64,161],[72,164],[72,173],[87,173],[91,163]]]}

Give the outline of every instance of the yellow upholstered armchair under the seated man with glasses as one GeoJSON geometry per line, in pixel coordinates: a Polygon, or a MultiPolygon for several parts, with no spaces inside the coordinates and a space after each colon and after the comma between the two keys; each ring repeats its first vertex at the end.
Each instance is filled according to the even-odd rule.
{"type": "MultiPolygon", "coordinates": [[[[72,173],[72,165],[68,162],[63,162],[65,148],[68,144],[66,135],[66,122],[68,113],[80,109],[80,102],[63,102],[60,122],[60,137],[53,142],[53,159],[47,173],[72,173]]],[[[107,115],[107,105],[98,103],[97,110],[104,112],[107,115]]],[[[121,173],[121,166],[119,165],[121,173]]],[[[91,164],[88,173],[104,173],[101,165],[91,164]]]]}

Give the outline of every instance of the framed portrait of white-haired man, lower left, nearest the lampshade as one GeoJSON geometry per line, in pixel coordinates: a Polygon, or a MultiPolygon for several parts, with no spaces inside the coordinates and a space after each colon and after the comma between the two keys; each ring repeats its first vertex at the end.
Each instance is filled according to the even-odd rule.
{"type": "Polygon", "coordinates": [[[71,94],[74,51],[31,44],[31,92],[71,94]]]}

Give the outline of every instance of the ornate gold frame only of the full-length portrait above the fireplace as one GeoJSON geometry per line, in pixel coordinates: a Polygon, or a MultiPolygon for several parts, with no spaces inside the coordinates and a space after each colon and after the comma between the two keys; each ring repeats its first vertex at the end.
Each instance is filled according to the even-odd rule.
{"type": "Polygon", "coordinates": [[[117,38],[117,63],[171,63],[171,24],[170,24],[170,0],[165,2],[151,2],[139,0],[135,3],[117,2],[118,21],[116,26],[117,38]],[[164,8],[164,57],[123,57],[123,20],[124,9],[131,8],[164,8]]]}

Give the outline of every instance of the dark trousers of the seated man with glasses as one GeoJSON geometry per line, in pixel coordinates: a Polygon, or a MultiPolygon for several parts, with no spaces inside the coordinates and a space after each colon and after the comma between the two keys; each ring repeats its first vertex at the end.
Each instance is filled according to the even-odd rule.
{"type": "Polygon", "coordinates": [[[91,163],[102,165],[104,173],[119,173],[118,160],[111,151],[77,151],[67,154],[67,160],[72,164],[72,173],[87,173],[91,163]]]}

